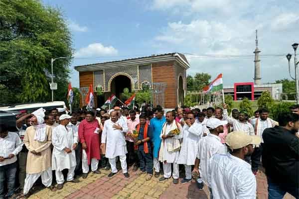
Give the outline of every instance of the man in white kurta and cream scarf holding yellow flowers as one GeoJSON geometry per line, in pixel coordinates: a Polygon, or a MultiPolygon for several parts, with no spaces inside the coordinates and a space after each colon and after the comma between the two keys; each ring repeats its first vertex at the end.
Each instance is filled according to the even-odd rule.
{"type": "Polygon", "coordinates": [[[162,126],[162,131],[160,138],[162,139],[159,151],[159,161],[163,163],[163,176],[159,181],[164,181],[171,177],[171,164],[173,165],[172,178],[173,183],[178,184],[178,157],[180,142],[179,139],[182,138],[182,127],[175,120],[175,112],[166,112],[166,122],[162,126]],[[172,130],[178,129],[178,135],[169,135],[172,130]]]}

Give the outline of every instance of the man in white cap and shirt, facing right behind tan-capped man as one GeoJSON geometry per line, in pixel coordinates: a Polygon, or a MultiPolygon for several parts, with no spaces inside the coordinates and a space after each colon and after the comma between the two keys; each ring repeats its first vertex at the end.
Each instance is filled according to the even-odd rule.
{"type": "MultiPolygon", "coordinates": [[[[219,137],[219,133],[223,133],[223,125],[226,124],[226,120],[210,118],[206,123],[206,127],[209,129],[210,133],[201,138],[198,143],[198,151],[193,172],[199,174],[198,166],[200,165],[201,179],[197,180],[197,187],[200,190],[203,189],[202,181],[211,190],[211,183],[208,182],[209,162],[211,157],[217,153],[225,154],[227,151],[226,146],[221,143],[221,139],[219,137]]],[[[210,195],[210,199],[211,198],[212,196],[210,195]]]]}

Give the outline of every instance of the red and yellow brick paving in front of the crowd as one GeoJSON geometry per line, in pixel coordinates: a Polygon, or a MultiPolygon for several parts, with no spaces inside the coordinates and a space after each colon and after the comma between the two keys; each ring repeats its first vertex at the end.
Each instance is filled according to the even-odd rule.
{"type": "MultiPolygon", "coordinates": [[[[209,195],[206,186],[203,191],[199,191],[193,181],[177,185],[172,183],[172,179],[159,182],[158,178],[152,177],[146,181],[145,174],[137,176],[132,168],[129,169],[129,179],[121,171],[112,178],[107,177],[109,173],[90,173],[87,179],[80,178],[80,183],[65,183],[63,189],[56,192],[41,189],[29,199],[208,199],[209,195]]],[[[256,178],[257,198],[268,199],[268,185],[263,169],[256,178]]],[[[284,199],[295,198],[287,194],[284,199]]]]}

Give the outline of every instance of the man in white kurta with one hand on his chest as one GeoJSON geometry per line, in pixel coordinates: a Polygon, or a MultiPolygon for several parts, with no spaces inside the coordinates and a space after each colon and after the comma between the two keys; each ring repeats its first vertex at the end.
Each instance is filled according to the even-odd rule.
{"type": "Polygon", "coordinates": [[[102,133],[102,144],[106,144],[105,156],[109,159],[111,165],[111,173],[108,177],[112,177],[118,172],[116,168],[116,157],[119,156],[124,176],[129,178],[126,162],[127,145],[125,139],[125,134],[128,132],[128,125],[125,121],[118,118],[117,111],[112,111],[110,117],[110,119],[105,121],[102,133]]]}

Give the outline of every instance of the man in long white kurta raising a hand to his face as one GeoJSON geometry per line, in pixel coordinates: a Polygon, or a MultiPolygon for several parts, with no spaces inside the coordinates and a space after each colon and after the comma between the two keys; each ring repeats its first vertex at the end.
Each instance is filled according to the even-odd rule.
{"type": "Polygon", "coordinates": [[[195,114],[187,114],[187,120],[183,126],[183,143],[179,152],[178,164],[185,166],[185,178],[181,183],[192,180],[191,166],[194,165],[197,153],[197,146],[202,134],[202,126],[195,122],[195,114]]]}

